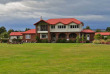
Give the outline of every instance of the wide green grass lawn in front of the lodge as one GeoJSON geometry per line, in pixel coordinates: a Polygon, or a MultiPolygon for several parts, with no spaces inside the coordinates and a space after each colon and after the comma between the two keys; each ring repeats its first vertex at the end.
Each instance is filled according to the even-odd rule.
{"type": "Polygon", "coordinates": [[[0,44],[0,74],[110,74],[110,45],[0,44]]]}

